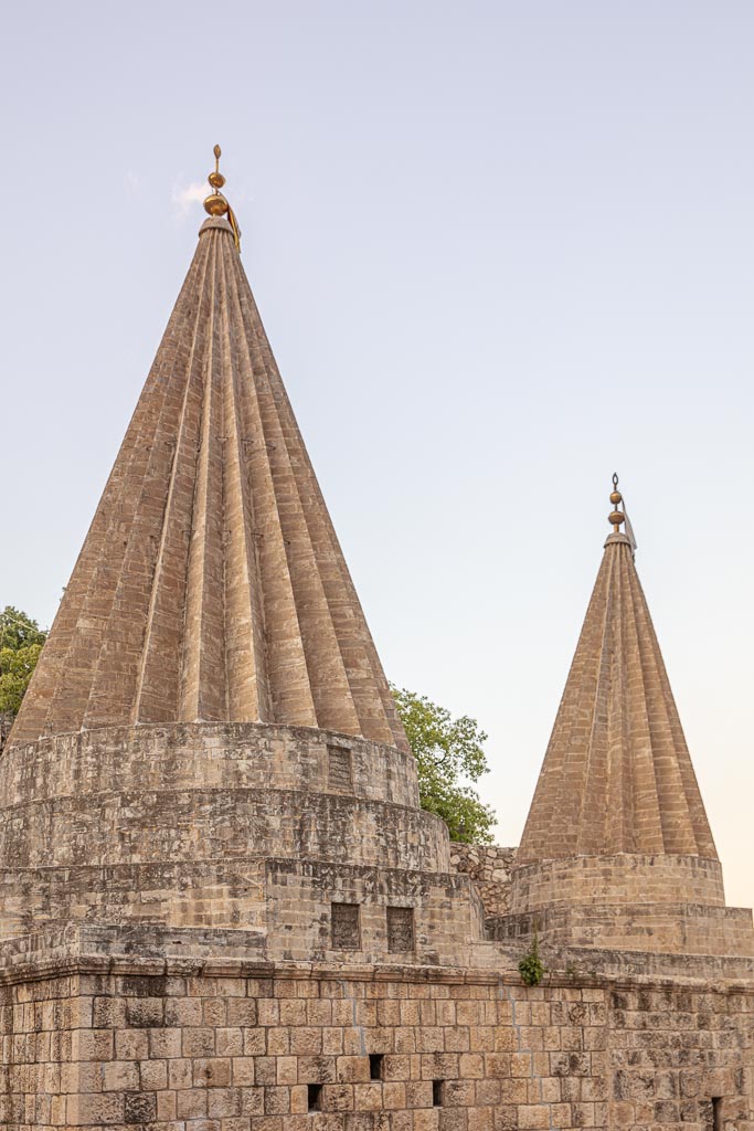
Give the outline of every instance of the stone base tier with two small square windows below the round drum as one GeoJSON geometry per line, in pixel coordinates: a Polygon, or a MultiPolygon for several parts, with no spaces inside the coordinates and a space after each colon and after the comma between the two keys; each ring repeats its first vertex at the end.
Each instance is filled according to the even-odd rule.
{"type": "Polygon", "coordinates": [[[500,959],[484,941],[483,909],[467,877],[406,869],[347,866],[271,857],[162,863],[119,867],[24,870],[0,874],[2,926],[21,939],[51,926],[118,926],[135,932],[205,930],[243,932],[259,957],[384,960],[391,952],[388,912],[410,910],[410,955],[402,961],[457,966],[500,959]],[[336,952],[333,904],[358,907],[357,946],[336,952]]]}

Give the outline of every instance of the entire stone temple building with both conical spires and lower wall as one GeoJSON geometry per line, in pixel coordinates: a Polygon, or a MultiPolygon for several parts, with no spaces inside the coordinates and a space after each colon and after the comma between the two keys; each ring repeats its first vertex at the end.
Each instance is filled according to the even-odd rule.
{"type": "Polygon", "coordinates": [[[0,1125],[752,1131],[621,495],[521,845],[451,846],[210,184],[0,759],[0,1125]]]}

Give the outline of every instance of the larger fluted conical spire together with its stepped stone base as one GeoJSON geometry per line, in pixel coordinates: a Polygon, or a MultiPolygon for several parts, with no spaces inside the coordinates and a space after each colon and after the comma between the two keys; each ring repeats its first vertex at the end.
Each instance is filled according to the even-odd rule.
{"type": "Polygon", "coordinates": [[[33,929],[107,962],[496,960],[447,826],[421,809],[225,179],[209,180],[0,759],[0,947],[33,929]]]}

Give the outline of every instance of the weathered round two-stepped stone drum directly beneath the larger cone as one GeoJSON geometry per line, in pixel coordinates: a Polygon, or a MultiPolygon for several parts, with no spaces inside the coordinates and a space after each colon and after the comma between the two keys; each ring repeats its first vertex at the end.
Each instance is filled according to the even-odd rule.
{"type": "Polygon", "coordinates": [[[413,758],[322,731],[106,729],[9,751],[0,860],[34,867],[292,854],[447,871],[442,822],[416,797],[413,758]],[[328,778],[336,743],[350,759],[347,788],[328,778]]]}

